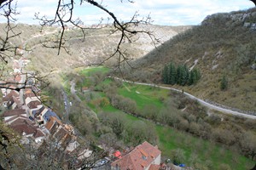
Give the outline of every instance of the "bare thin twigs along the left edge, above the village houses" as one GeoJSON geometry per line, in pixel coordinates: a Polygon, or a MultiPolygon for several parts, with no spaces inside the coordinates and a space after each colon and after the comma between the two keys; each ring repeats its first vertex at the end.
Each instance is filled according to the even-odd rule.
{"type": "MultiPolygon", "coordinates": [[[[49,82],[46,80],[46,77],[49,77],[49,74],[45,76],[40,76],[38,73],[28,73],[26,71],[20,71],[18,74],[20,77],[23,77],[24,81],[18,82],[15,81],[17,74],[14,74],[12,80],[9,80],[9,70],[7,64],[9,59],[18,55],[20,51],[25,50],[17,46],[12,40],[17,37],[20,37],[21,31],[17,29],[15,25],[17,12],[17,4],[13,0],[9,1],[0,1],[0,17],[6,19],[6,24],[2,30],[0,36],[0,59],[1,59],[1,68],[0,68],[0,88],[7,88],[16,91],[24,88],[32,88],[38,85],[38,82],[45,87],[49,85],[49,82]],[[29,82],[30,79],[33,79],[33,83],[29,82]]],[[[36,93],[35,93],[36,94],[36,93]]]]}

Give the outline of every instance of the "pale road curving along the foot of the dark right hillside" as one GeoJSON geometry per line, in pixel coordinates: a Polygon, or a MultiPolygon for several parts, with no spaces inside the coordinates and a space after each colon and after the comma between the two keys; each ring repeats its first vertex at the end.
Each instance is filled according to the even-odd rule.
{"type": "Polygon", "coordinates": [[[234,116],[242,116],[242,117],[249,118],[249,119],[256,119],[256,116],[253,116],[253,115],[247,115],[247,114],[241,113],[239,111],[231,111],[229,109],[224,109],[223,107],[220,107],[218,105],[212,105],[212,104],[210,104],[210,103],[208,103],[208,102],[206,102],[206,101],[204,101],[202,99],[196,98],[192,94],[189,94],[189,93],[186,93],[186,92],[182,92],[182,90],[178,90],[176,88],[169,88],[169,87],[158,86],[158,85],[155,85],[155,84],[143,83],[143,82],[131,82],[131,81],[119,78],[119,77],[111,77],[111,78],[120,80],[122,82],[129,82],[129,83],[134,83],[134,84],[139,84],[139,85],[144,85],[144,86],[152,86],[152,87],[156,87],[156,88],[165,88],[165,89],[177,91],[177,92],[180,92],[180,93],[183,93],[183,94],[187,95],[190,99],[196,99],[199,103],[201,103],[201,105],[205,105],[205,106],[207,106],[207,108],[210,108],[212,110],[221,111],[223,113],[234,115],[234,116]]]}

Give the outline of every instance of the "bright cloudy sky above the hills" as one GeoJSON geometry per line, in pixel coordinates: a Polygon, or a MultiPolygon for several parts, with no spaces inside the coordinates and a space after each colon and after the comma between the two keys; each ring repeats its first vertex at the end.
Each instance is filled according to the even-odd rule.
{"type": "MultiPolygon", "coordinates": [[[[153,24],[166,26],[199,25],[209,14],[230,12],[253,8],[249,0],[134,0],[128,3],[127,0],[102,0],[102,5],[115,14],[118,19],[130,20],[131,16],[138,11],[140,17],[150,14],[153,24]]],[[[37,24],[33,20],[34,14],[53,16],[57,0],[17,0],[18,11],[20,12],[19,22],[37,24]]],[[[77,1],[79,2],[79,0],[77,1]]],[[[101,2],[101,1],[97,1],[101,2]]],[[[102,17],[107,20],[107,14],[90,4],[75,6],[75,16],[84,21],[84,24],[96,24],[102,17]]],[[[3,22],[3,16],[0,16],[3,22]]]]}

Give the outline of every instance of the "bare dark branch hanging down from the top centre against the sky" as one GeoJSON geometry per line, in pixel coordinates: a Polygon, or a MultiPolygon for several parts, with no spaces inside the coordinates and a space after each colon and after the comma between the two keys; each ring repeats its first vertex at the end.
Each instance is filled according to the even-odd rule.
{"type": "MultiPolygon", "coordinates": [[[[127,0],[130,3],[133,3],[130,0],[127,0]]],[[[132,37],[139,33],[145,33],[147,34],[153,42],[159,42],[158,39],[154,37],[152,32],[150,31],[143,31],[143,30],[137,30],[136,27],[139,24],[149,24],[152,22],[150,16],[148,15],[147,17],[143,18],[142,20],[139,19],[139,14],[136,12],[132,17],[131,20],[127,22],[121,22],[120,20],[117,19],[117,16],[113,14],[108,8],[104,7],[101,3],[97,3],[94,0],[79,0],[78,1],[80,5],[83,5],[83,3],[90,3],[90,5],[100,8],[102,11],[104,11],[108,16],[113,20],[113,33],[119,33],[119,42],[117,43],[117,46],[115,48],[115,51],[113,54],[111,54],[108,59],[112,58],[113,56],[117,55],[118,56],[118,68],[121,63],[126,63],[128,65],[128,58],[125,55],[125,50],[121,48],[121,44],[124,42],[133,42],[132,37]]],[[[121,1],[122,2],[122,1],[121,1]]],[[[86,37],[86,29],[89,29],[90,27],[85,27],[83,26],[83,21],[80,19],[74,19],[73,17],[73,11],[75,10],[74,3],[76,1],[74,0],[58,0],[58,5],[55,11],[55,16],[53,19],[49,19],[47,16],[39,16],[39,14],[36,14],[36,19],[40,21],[41,26],[54,26],[54,25],[59,25],[61,26],[61,34],[56,39],[55,45],[54,46],[47,46],[49,48],[58,48],[58,54],[61,52],[61,48],[64,48],[67,51],[67,46],[65,45],[65,38],[64,38],[64,33],[65,33],[65,26],[67,24],[71,24],[73,26],[78,27],[84,35],[84,38],[86,37]]],[[[105,59],[103,62],[105,62],[105,59]]],[[[131,65],[130,65],[131,66],[131,65]]]]}

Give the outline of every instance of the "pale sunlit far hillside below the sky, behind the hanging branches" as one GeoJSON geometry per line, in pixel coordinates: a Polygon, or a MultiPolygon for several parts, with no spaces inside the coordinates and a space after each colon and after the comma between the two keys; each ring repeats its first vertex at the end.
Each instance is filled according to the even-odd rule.
{"type": "MultiPolygon", "coordinates": [[[[154,26],[141,25],[137,30],[152,31],[160,42],[166,42],[171,37],[189,29],[191,26],[154,26]]],[[[4,30],[4,24],[0,24],[0,29],[4,30]]],[[[70,28],[65,32],[67,52],[62,49],[61,54],[57,55],[56,48],[45,48],[42,46],[44,42],[55,41],[55,37],[60,35],[60,29],[56,27],[28,26],[20,24],[15,28],[16,32],[22,32],[20,37],[15,37],[11,40],[12,43],[30,50],[24,56],[32,59],[32,70],[47,72],[50,70],[67,71],[70,67],[84,65],[98,65],[104,59],[107,59],[115,50],[120,35],[112,33],[111,26],[101,29],[86,30],[85,40],[83,33],[79,29],[70,28]],[[84,40],[84,41],[83,41],[84,40]]],[[[1,37],[4,37],[4,31],[0,32],[1,37]]],[[[131,59],[138,59],[148,54],[154,48],[154,44],[150,37],[146,34],[139,34],[134,37],[136,42],[131,44],[125,43],[122,48],[126,50],[126,54],[131,59]]],[[[52,44],[48,44],[52,47],[52,44]]],[[[160,44],[157,44],[160,45],[160,44]]],[[[109,59],[107,65],[113,65],[116,59],[109,59]]]]}

